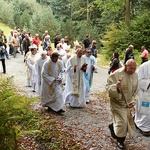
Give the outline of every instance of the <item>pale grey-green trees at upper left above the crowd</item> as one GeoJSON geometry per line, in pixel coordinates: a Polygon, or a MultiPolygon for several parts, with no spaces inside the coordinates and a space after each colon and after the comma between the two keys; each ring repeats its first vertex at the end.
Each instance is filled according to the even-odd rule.
{"type": "Polygon", "coordinates": [[[60,31],[59,23],[49,6],[41,6],[35,0],[11,2],[0,0],[0,2],[3,4],[0,9],[0,21],[11,28],[17,26],[21,30],[32,32],[33,35],[38,33],[40,36],[45,30],[49,30],[52,37],[60,31]]]}

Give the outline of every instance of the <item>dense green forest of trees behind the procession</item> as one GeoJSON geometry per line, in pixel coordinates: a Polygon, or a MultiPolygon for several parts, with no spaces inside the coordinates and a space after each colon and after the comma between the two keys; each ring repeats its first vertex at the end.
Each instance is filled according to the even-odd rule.
{"type": "MultiPolygon", "coordinates": [[[[98,43],[99,53],[120,54],[129,44],[149,49],[149,0],[0,0],[0,21],[33,34],[48,30],[67,35],[70,43],[86,34],[98,43]]],[[[107,54],[107,55],[106,55],[107,54]]]]}

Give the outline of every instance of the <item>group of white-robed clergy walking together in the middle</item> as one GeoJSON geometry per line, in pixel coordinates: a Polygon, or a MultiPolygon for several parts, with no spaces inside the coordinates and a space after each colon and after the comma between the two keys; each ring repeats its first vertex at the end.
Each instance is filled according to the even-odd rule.
{"type": "Polygon", "coordinates": [[[78,41],[72,52],[66,43],[59,42],[54,51],[48,47],[43,50],[35,44],[29,46],[25,56],[27,86],[40,95],[43,107],[55,112],[65,112],[65,104],[84,107],[89,102],[96,65],[90,48],[83,52],[78,41]]]}

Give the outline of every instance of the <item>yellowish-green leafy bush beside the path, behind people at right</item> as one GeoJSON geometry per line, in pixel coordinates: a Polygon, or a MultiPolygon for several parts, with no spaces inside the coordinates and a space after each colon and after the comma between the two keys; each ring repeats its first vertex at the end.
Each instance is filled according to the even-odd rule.
{"type": "Polygon", "coordinates": [[[103,54],[105,54],[106,58],[110,60],[113,52],[116,51],[119,52],[120,58],[122,59],[125,54],[125,49],[130,44],[128,28],[122,23],[120,23],[120,29],[117,27],[117,24],[110,25],[101,42],[104,46],[103,54]]]}

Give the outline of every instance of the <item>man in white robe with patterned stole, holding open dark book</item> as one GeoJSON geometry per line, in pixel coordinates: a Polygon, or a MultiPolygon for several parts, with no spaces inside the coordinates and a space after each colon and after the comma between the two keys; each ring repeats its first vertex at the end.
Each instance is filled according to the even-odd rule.
{"type": "Polygon", "coordinates": [[[66,65],[66,86],[63,96],[71,107],[86,105],[84,73],[87,65],[82,54],[82,49],[78,48],[76,55],[71,57],[66,65]]]}

